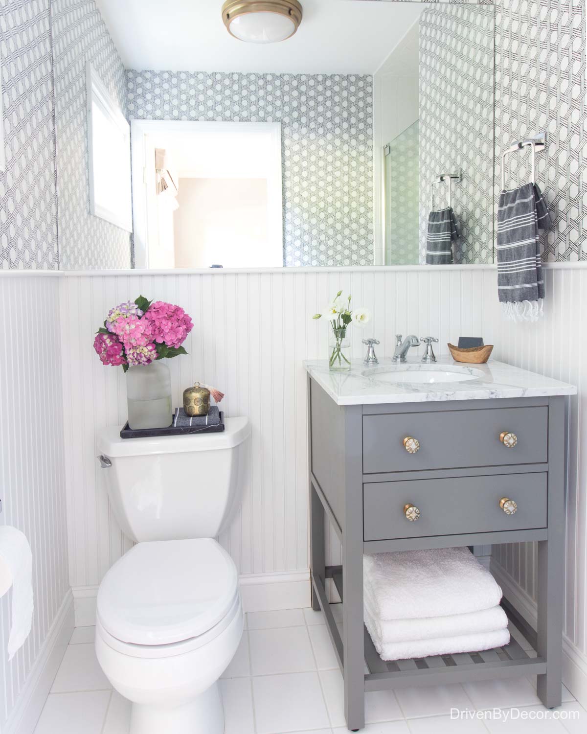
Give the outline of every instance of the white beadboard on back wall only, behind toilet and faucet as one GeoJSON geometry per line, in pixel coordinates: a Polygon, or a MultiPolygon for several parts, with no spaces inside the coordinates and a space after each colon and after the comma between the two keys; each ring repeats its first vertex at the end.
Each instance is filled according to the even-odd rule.
{"type": "MultiPolygon", "coordinates": [[[[126,419],[125,377],[103,367],[92,348],[95,330],[113,305],[139,294],[186,308],[194,330],[188,357],[169,360],[175,405],[200,380],[226,393],[227,415],[252,423],[250,466],[237,519],[220,539],[246,577],[307,573],[306,382],[302,360],[326,357],[327,323],[313,321],[342,288],[354,305],[373,311],[361,338],[374,335],[379,352],[398,332],[434,334],[442,344],[459,334],[493,338],[497,328],[495,272],[462,269],[205,275],[67,275],[61,280],[65,444],[68,454],[71,583],[91,595],[128,548],[109,509],[96,432],[126,419]],[[492,308],[484,308],[484,302],[492,308]],[[80,588],[81,587],[81,588],[80,588]],[[87,587],[90,587],[88,589],[87,587]]],[[[336,552],[333,537],[333,551],[336,552]]],[[[308,598],[309,584],[305,586],[308,598]]]]}

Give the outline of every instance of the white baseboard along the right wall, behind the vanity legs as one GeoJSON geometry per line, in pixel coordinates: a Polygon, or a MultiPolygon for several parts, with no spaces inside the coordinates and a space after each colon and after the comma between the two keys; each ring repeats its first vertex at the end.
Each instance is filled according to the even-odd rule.
{"type": "MultiPolygon", "coordinates": [[[[538,621],[536,602],[494,559],[491,562],[491,573],[497,584],[503,589],[508,601],[536,629],[538,621]]],[[[577,701],[583,707],[587,707],[587,655],[575,647],[565,635],[563,635],[563,683],[577,701]]]]}

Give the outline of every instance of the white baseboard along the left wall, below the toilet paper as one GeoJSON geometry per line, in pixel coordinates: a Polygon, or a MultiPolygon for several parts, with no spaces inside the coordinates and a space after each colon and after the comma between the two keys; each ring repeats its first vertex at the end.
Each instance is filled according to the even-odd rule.
{"type": "Polygon", "coordinates": [[[73,596],[65,595],[37,661],[8,717],[4,734],[32,734],[73,633],[73,596]]]}

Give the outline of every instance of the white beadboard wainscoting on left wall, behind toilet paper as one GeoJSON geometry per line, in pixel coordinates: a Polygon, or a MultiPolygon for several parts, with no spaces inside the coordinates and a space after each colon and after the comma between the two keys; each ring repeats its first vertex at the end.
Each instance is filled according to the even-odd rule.
{"type": "Polygon", "coordinates": [[[0,730],[30,733],[73,631],[65,506],[59,281],[0,276],[1,525],[32,547],[32,631],[7,659],[12,593],[0,600],[0,730]]]}

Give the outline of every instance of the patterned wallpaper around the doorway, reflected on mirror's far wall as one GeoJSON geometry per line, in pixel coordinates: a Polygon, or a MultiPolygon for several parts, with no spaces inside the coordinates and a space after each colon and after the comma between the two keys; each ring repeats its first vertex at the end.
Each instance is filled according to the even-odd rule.
{"type": "Polygon", "coordinates": [[[127,72],[128,114],[282,124],[285,265],[373,262],[370,76],[127,72]]]}

